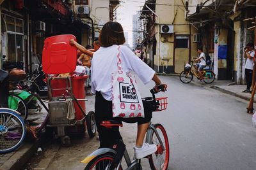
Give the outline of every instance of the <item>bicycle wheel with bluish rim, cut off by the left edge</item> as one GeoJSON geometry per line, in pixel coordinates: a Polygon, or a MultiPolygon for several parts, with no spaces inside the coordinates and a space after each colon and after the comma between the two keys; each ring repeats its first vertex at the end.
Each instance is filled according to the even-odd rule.
{"type": "Polygon", "coordinates": [[[16,111],[0,108],[0,153],[17,149],[25,136],[25,124],[16,111]]]}

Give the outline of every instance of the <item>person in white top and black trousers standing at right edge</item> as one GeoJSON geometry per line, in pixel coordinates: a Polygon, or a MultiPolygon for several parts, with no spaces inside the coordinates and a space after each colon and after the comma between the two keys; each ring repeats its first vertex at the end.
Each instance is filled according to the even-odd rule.
{"type": "Polygon", "coordinates": [[[246,89],[243,92],[248,93],[251,92],[251,85],[252,85],[252,71],[253,71],[253,57],[254,57],[254,45],[253,43],[247,43],[246,47],[244,48],[244,58],[247,58],[245,63],[245,80],[246,80],[246,89]]]}

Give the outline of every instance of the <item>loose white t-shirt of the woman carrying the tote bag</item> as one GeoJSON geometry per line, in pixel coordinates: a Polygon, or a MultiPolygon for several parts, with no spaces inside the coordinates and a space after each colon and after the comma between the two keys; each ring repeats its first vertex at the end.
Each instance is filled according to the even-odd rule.
{"type": "MultiPolygon", "coordinates": [[[[112,101],[111,74],[118,70],[118,46],[100,46],[93,54],[91,66],[92,93],[101,92],[104,99],[112,101]]],[[[137,57],[127,46],[120,46],[123,71],[134,71],[144,84],[152,80],[155,71],[137,57]]]]}

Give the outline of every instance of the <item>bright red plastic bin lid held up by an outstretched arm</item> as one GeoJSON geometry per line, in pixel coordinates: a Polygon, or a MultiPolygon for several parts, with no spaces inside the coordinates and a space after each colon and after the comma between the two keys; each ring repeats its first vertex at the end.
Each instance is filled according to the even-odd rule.
{"type": "Polygon", "coordinates": [[[51,36],[44,41],[43,71],[46,74],[72,73],[76,69],[77,49],[70,45],[71,34],[51,36]]]}

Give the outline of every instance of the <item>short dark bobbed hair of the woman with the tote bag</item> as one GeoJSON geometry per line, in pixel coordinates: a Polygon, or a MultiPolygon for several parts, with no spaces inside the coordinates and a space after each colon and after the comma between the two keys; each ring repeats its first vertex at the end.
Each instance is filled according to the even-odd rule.
{"type": "Polygon", "coordinates": [[[122,45],[125,43],[124,30],[118,22],[107,22],[99,35],[100,46],[122,45]]]}

